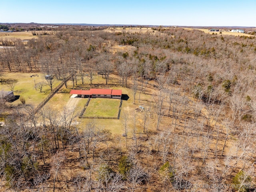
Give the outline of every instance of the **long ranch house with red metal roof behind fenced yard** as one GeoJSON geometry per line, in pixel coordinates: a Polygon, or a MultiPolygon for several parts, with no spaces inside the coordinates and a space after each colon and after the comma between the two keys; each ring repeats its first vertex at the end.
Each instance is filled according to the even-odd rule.
{"type": "Polygon", "coordinates": [[[115,90],[115,89],[71,90],[70,94],[77,94],[78,97],[82,97],[82,98],[121,99],[122,90],[115,90]]]}

